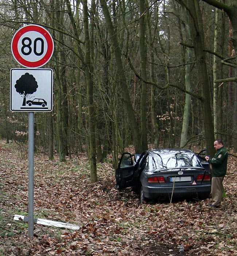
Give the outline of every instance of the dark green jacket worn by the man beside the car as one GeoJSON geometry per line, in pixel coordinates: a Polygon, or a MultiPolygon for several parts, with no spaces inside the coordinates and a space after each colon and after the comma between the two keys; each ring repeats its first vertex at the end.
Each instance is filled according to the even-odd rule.
{"type": "Polygon", "coordinates": [[[225,176],[227,170],[227,159],[228,152],[224,146],[217,150],[217,153],[212,159],[209,158],[208,162],[211,163],[212,166],[212,177],[225,176]]]}

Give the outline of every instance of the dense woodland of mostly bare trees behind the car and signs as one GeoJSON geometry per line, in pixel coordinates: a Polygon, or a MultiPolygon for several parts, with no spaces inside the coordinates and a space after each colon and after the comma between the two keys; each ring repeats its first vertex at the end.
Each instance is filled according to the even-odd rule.
{"type": "Polygon", "coordinates": [[[90,180],[128,145],[236,151],[236,15],[232,0],[4,0],[0,3],[0,136],[26,147],[28,116],[9,111],[16,30],[44,26],[55,50],[54,107],[35,113],[35,150],[86,152],[90,180]],[[217,8],[215,8],[215,7],[217,8]]]}

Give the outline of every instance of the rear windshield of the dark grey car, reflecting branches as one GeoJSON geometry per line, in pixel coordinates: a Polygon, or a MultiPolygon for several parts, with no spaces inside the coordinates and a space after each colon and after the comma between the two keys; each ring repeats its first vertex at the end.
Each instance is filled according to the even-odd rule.
{"type": "Polygon", "coordinates": [[[193,152],[186,151],[154,151],[150,158],[149,169],[165,169],[175,167],[201,167],[201,163],[193,152]]]}

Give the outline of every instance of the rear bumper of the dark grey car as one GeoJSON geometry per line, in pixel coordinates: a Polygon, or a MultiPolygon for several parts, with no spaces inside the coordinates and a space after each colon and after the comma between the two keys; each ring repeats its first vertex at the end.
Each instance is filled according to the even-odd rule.
{"type": "Polygon", "coordinates": [[[167,199],[170,198],[172,193],[175,198],[199,198],[204,199],[209,197],[211,192],[211,185],[189,185],[182,187],[155,187],[155,186],[144,186],[143,193],[147,199],[167,199]]]}

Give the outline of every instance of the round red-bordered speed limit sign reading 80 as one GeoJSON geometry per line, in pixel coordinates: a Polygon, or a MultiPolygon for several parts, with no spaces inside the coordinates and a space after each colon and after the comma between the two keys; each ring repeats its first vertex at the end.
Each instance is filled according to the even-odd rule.
{"type": "Polygon", "coordinates": [[[16,31],[11,43],[15,60],[27,68],[38,68],[46,64],[54,52],[54,41],[42,26],[28,25],[16,31]]]}

